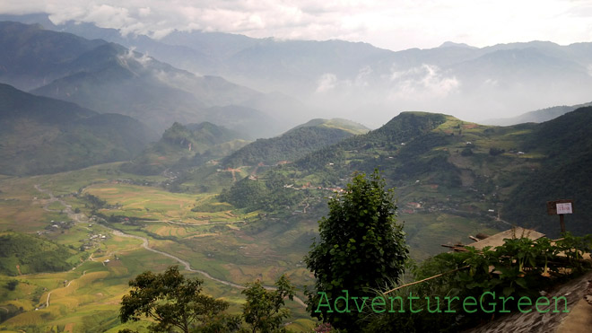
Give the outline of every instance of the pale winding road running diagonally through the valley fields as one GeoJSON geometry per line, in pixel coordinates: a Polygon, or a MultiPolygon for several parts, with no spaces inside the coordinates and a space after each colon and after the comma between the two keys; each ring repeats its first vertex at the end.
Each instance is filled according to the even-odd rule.
{"type": "MultiPolygon", "coordinates": [[[[45,209],[45,210],[47,210],[47,211],[51,211],[50,209],[48,209],[48,206],[49,206],[49,205],[50,205],[52,202],[56,202],[56,201],[58,201],[60,204],[62,204],[63,206],[65,206],[64,212],[65,212],[65,213],[68,215],[68,217],[69,217],[69,218],[71,218],[71,219],[72,219],[72,220],[73,220],[75,223],[88,223],[88,217],[87,217],[86,215],[83,215],[83,214],[74,214],[74,211],[72,210],[72,206],[70,206],[70,205],[67,205],[67,204],[65,203],[65,201],[64,201],[64,200],[62,200],[62,199],[59,199],[59,198],[55,197],[55,196],[53,195],[53,193],[51,193],[51,191],[49,191],[48,189],[43,189],[43,188],[40,188],[39,184],[35,185],[35,188],[36,188],[36,189],[37,189],[39,192],[45,193],[45,194],[47,194],[47,195],[49,196],[49,201],[48,201],[48,204],[46,204],[46,205],[43,207],[43,209],[45,209]]],[[[231,281],[226,281],[226,280],[219,279],[219,278],[217,278],[217,277],[213,277],[213,276],[209,275],[207,272],[205,272],[205,271],[203,271],[203,270],[201,270],[201,269],[194,269],[194,268],[191,268],[191,265],[190,265],[190,264],[187,262],[187,260],[180,259],[180,258],[178,258],[177,256],[174,256],[174,255],[172,255],[172,254],[170,254],[170,253],[167,253],[167,252],[163,252],[163,251],[161,251],[161,250],[155,250],[155,249],[152,249],[152,248],[149,246],[149,244],[148,244],[148,239],[147,239],[147,238],[145,238],[145,237],[142,237],[142,236],[136,236],[136,235],[132,235],[132,234],[129,234],[129,233],[121,232],[121,231],[118,231],[118,230],[116,230],[116,229],[110,228],[109,226],[107,226],[107,225],[105,225],[105,224],[101,224],[101,226],[103,226],[103,227],[104,227],[104,228],[106,228],[106,229],[109,229],[109,232],[113,233],[113,234],[114,234],[114,235],[116,235],[116,236],[119,236],[119,237],[127,237],[127,238],[134,238],[134,239],[136,239],[136,240],[140,240],[140,241],[142,241],[142,247],[143,247],[145,250],[149,250],[149,251],[152,251],[152,252],[154,252],[154,253],[161,254],[162,256],[169,257],[170,259],[176,260],[176,261],[178,261],[178,263],[180,263],[181,265],[183,265],[183,266],[185,267],[185,269],[186,269],[187,271],[189,271],[189,272],[195,272],[195,273],[199,273],[199,274],[201,274],[201,275],[205,276],[205,278],[207,278],[207,279],[210,279],[210,280],[213,280],[213,281],[215,281],[215,282],[218,282],[218,283],[220,283],[220,284],[222,284],[222,285],[229,285],[229,286],[231,286],[231,287],[233,287],[233,288],[238,288],[238,289],[245,289],[245,286],[244,286],[244,285],[235,284],[235,283],[233,283],[233,282],[231,282],[231,281]]],[[[92,258],[92,256],[91,256],[91,258],[92,258]]],[[[70,283],[72,283],[72,281],[70,281],[70,283]]],[[[69,286],[69,285],[70,285],[70,284],[68,284],[67,286],[69,286]]],[[[66,287],[67,287],[67,286],[66,286],[66,287]]],[[[271,286],[271,285],[264,285],[264,287],[265,287],[267,290],[276,290],[276,289],[277,289],[277,288],[275,288],[274,286],[271,286]]],[[[49,306],[49,296],[50,296],[50,295],[51,295],[51,292],[49,292],[49,293],[48,293],[48,299],[47,299],[47,301],[46,301],[46,306],[47,306],[47,307],[49,306]]],[[[297,297],[297,296],[294,296],[294,302],[297,302],[297,303],[299,303],[301,306],[303,306],[303,307],[306,307],[306,304],[305,304],[304,302],[302,302],[302,300],[301,300],[299,297],[297,297]]]]}

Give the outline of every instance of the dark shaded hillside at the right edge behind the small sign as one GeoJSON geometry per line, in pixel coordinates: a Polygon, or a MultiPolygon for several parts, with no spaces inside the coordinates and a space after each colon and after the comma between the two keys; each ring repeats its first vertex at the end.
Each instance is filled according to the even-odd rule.
{"type": "Polygon", "coordinates": [[[527,149],[540,152],[540,168],[521,181],[503,213],[509,221],[558,234],[559,217],[546,214],[546,201],[573,199],[567,230],[592,232],[592,107],[580,108],[536,127],[527,149]]]}

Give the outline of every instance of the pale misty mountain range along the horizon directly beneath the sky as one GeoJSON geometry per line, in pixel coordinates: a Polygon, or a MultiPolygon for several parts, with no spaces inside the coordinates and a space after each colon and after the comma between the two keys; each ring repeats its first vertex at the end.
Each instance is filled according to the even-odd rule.
{"type": "MultiPolygon", "coordinates": [[[[21,19],[118,42],[196,74],[291,96],[309,107],[282,115],[301,115],[292,119],[300,122],[343,117],[379,127],[393,110],[444,110],[475,121],[590,101],[592,43],[531,41],[473,48],[445,42],[439,48],[395,52],[343,40],[251,39],[205,31],[173,31],[159,40],[122,37],[90,23],[56,26],[47,15],[33,16],[21,19]]],[[[285,107],[292,105],[289,100],[285,107]]]]}

